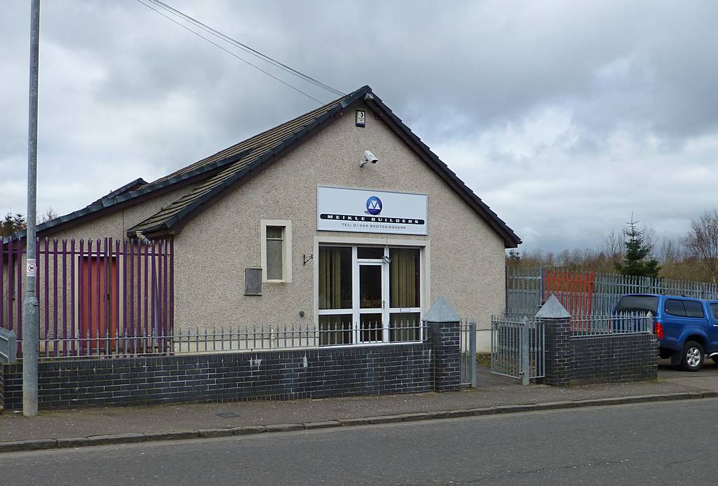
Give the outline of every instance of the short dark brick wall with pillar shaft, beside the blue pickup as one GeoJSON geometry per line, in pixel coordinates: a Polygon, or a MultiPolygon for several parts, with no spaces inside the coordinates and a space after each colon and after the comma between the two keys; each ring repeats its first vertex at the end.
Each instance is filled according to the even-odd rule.
{"type": "Polygon", "coordinates": [[[658,378],[653,334],[572,337],[568,319],[546,324],[546,378],[557,386],[626,383],[658,378]]]}

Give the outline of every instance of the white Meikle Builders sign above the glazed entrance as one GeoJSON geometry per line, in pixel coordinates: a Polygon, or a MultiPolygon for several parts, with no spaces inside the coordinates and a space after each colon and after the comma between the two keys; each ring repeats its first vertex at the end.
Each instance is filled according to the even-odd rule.
{"type": "Polygon", "coordinates": [[[426,195],[318,186],[317,230],[426,235],[426,195]]]}

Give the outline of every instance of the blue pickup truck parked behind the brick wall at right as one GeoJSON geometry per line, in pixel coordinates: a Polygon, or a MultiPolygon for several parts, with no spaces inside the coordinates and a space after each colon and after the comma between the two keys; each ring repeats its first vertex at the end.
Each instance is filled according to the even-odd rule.
{"type": "Polygon", "coordinates": [[[651,312],[658,354],[671,358],[673,365],[698,371],[705,355],[718,363],[718,300],[628,294],[621,297],[615,312],[651,312]]]}

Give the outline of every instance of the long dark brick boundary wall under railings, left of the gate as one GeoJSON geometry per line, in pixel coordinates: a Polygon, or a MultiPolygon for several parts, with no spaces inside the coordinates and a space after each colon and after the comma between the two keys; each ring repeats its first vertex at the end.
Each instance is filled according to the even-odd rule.
{"type": "MultiPolygon", "coordinates": [[[[42,409],[426,391],[434,391],[430,342],[39,364],[42,409]]],[[[4,406],[22,409],[21,364],[4,365],[4,406]]]]}

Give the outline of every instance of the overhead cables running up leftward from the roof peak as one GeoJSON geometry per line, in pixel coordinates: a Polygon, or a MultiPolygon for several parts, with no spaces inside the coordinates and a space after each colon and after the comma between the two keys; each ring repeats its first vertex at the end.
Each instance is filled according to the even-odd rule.
{"type": "Polygon", "coordinates": [[[258,57],[258,59],[268,62],[270,65],[273,65],[274,67],[278,67],[279,69],[284,70],[286,73],[290,73],[294,76],[297,76],[297,78],[302,79],[306,82],[309,82],[312,85],[315,85],[317,87],[320,87],[322,89],[330,91],[330,93],[335,94],[335,95],[344,95],[344,93],[342,93],[341,91],[336,90],[335,88],[332,88],[329,85],[326,85],[325,83],[322,83],[321,81],[310,77],[309,75],[300,73],[299,71],[294,70],[292,67],[284,65],[281,62],[274,60],[272,57],[266,56],[266,55],[262,54],[261,52],[258,52],[257,50],[254,50],[253,48],[251,48],[247,45],[244,45],[242,42],[239,42],[238,40],[233,39],[233,38],[223,34],[222,32],[219,32],[219,31],[213,29],[212,27],[202,24],[202,22],[199,22],[198,20],[195,20],[192,17],[190,17],[186,14],[183,14],[182,12],[180,12],[176,9],[173,9],[171,6],[162,3],[162,1],[159,1],[159,0],[137,0],[137,1],[140,4],[146,6],[148,9],[156,12],[159,15],[162,15],[162,17],[168,19],[169,21],[174,22],[174,24],[177,24],[180,27],[182,27],[183,29],[185,29],[189,32],[192,32],[192,34],[195,34],[197,37],[204,39],[205,41],[209,42],[211,45],[214,45],[215,47],[220,48],[224,52],[227,52],[229,55],[236,57],[238,60],[241,60],[242,62],[250,65],[251,67],[254,67],[256,70],[268,75],[270,78],[279,81],[279,83],[282,83],[283,85],[286,85],[287,87],[292,88],[292,90],[297,91],[297,93],[301,93],[302,95],[307,96],[307,98],[311,98],[312,100],[316,101],[317,103],[323,104],[322,101],[318,100],[317,98],[314,98],[314,96],[312,96],[312,95],[309,95],[309,93],[306,93],[303,90],[300,90],[296,86],[287,83],[286,81],[282,80],[281,78],[278,78],[277,76],[273,75],[272,73],[269,73],[268,71],[262,69],[258,65],[253,64],[252,62],[249,62],[248,60],[244,59],[243,57],[237,55],[235,52],[232,52],[232,51],[226,49],[225,47],[217,44],[216,42],[213,42],[212,39],[208,39],[207,37],[204,37],[199,32],[196,32],[195,30],[190,29],[190,27],[187,27],[187,25],[183,24],[182,22],[179,22],[177,19],[169,17],[169,15],[165,14],[164,12],[168,12],[169,14],[172,14],[175,17],[180,17],[181,19],[185,20],[186,22],[190,22],[190,24],[194,25],[195,27],[200,28],[200,29],[204,30],[205,32],[208,32],[215,37],[218,37],[219,39],[223,40],[224,42],[228,42],[230,45],[233,45],[234,47],[238,47],[239,49],[243,50],[244,52],[248,52],[249,54],[253,55],[254,57],[258,57]],[[145,3],[146,1],[149,2],[149,4],[145,3]],[[164,11],[158,10],[157,8],[155,8],[155,6],[157,6],[160,9],[163,9],[164,11]]]}

